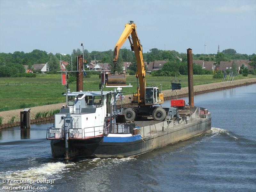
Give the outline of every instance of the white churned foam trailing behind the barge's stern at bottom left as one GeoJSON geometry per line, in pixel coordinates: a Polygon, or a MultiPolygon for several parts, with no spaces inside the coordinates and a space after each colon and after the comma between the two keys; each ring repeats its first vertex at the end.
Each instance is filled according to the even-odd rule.
{"type": "MultiPolygon", "coordinates": [[[[36,180],[36,179],[46,179],[48,176],[55,175],[57,173],[62,172],[62,170],[67,167],[71,166],[72,164],[64,164],[61,162],[57,163],[46,163],[40,167],[33,167],[27,170],[22,171],[8,171],[8,172],[1,172],[1,178],[4,179],[28,179],[28,180],[36,180]]],[[[53,179],[53,178],[52,178],[53,179]]]]}

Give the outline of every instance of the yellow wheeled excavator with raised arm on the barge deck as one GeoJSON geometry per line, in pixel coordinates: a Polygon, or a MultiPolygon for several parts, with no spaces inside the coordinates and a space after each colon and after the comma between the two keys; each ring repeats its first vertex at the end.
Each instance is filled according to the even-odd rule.
{"type": "MultiPolygon", "coordinates": [[[[166,113],[168,113],[169,108],[155,106],[164,103],[164,95],[159,92],[157,86],[146,86],[146,71],[142,54],[142,45],[140,44],[136,25],[133,21],[129,21],[129,23],[125,24],[124,31],[114,49],[113,62],[114,64],[117,62],[119,50],[127,38],[129,39],[131,49],[134,51],[137,61],[137,93],[132,93],[130,99],[131,104],[138,104],[138,107],[124,108],[123,114],[125,119],[126,121],[132,121],[136,117],[153,117],[156,121],[163,121],[166,118],[166,113]]],[[[114,74],[117,74],[116,67],[114,67],[114,74]]],[[[111,79],[111,76],[109,77],[111,79]]],[[[120,80],[122,77],[119,76],[118,78],[120,80]]]]}

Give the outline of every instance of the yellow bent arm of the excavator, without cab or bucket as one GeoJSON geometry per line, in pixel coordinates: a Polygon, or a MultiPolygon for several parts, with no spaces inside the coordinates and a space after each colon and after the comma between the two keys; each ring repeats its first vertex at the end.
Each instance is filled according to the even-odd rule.
{"type": "Polygon", "coordinates": [[[135,53],[136,61],[137,61],[137,94],[134,94],[134,101],[138,102],[138,104],[145,104],[145,90],[146,90],[146,71],[144,66],[143,54],[142,54],[142,45],[140,44],[140,39],[138,38],[136,32],[136,25],[133,21],[125,24],[124,31],[120,38],[118,39],[115,49],[114,49],[114,60],[113,62],[117,62],[118,53],[124,42],[129,39],[131,44],[131,49],[135,53]],[[132,36],[132,38],[130,37],[132,36]]]}

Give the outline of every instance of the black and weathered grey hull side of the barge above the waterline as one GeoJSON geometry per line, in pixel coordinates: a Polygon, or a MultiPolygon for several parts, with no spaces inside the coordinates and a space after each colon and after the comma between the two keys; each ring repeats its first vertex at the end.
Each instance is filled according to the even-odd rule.
{"type": "MultiPolygon", "coordinates": [[[[103,137],[69,140],[70,158],[122,158],[147,153],[181,140],[201,135],[211,129],[211,117],[152,134],[132,142],[104,142],[103,137]]],[[[53,157],[65,157],[65,140],[51,140],[53,157]]]]}

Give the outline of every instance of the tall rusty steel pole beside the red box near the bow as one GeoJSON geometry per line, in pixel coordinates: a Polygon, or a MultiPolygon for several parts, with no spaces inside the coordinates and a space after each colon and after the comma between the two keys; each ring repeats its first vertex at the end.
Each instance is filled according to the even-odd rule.
{"type": "Polygon", "coordinates": [[[194,107],[194,85],[193,85],[193,63],[192,49],[187,49],[188,56],[188,102],[191,107],[194,107]]]}

